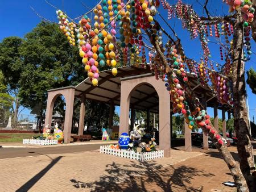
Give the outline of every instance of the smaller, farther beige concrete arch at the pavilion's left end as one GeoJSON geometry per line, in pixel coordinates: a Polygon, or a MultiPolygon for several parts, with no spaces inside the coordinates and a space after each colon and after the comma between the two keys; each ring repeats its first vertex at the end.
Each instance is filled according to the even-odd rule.
{"type": "Polygon", "coordinates": [[[51,126],[52,122],[52,111],[56,98],[63,95],[66,101],[66,111],[64,120],[64,143],[70,143],[71,128],[72,128],[72,117],[73,117],[73,106],[75,98],[75,87],[69,89],[55,89],[48,90],[47,106],[46,106],[46,121],[45,124],[51,126]]]}

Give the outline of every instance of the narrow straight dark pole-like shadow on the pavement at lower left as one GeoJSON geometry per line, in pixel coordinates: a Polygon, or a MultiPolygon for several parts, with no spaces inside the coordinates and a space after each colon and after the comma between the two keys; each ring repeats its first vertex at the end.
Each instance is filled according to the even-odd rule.
{"type": "Polygon", "coordinates": [[[28,191],[32,186],[35,185],[36,182],[40,180],[52,168],[53,165],[55,165],[63,156],[56,157],[52,160],[52,162],[46,166],[43,170],[41,170],[38,174],[36,174],[34,177],[32,177],[28,182],[26,182],[23,186],[19,187],[16,191],[28,191]]]}

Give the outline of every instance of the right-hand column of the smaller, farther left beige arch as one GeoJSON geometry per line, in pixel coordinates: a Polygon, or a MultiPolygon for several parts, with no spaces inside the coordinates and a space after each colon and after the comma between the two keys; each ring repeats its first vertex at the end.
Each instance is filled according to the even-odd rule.
{"type": "Polygon", "coordinates": [[[75,89],[67,90],[67,95],[64,95],[64,96],[66,99],[65,122],[64,122],[64,131],[63,131],[64,143],[70,143],[75,89]]]}

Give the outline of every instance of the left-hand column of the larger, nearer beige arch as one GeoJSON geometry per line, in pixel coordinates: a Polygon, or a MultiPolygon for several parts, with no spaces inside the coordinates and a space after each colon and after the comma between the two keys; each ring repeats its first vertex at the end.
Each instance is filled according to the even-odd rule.
{"type": "Polygon", "coordinates": [[[125,81],[121,81],[121,100],[120,100],[120,122],[119,122],[119,136],[123,133],[129,132],[129,106],[130,98],[125,81]]]}

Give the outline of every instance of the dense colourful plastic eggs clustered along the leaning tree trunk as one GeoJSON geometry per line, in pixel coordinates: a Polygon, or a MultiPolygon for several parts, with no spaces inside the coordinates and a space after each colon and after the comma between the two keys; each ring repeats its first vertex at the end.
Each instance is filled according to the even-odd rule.
{"type": "MultiPolygon", "coordinates": [[[[199,106],[192,105],[192,102],[188,102],[189,99],[185,99],[185,91],[187,91],[187,94],[191,94],[191,91],[188,89],[185,89],[188,78],[183,71],[184,65],[182,64],[182,60],[180,55],[177,55],[177,50],[175,49],[174,45],[167,44],[167,56],[169,59],[168,64],[170,65],[170,68],[172,68],[172,73],[164,73],[165,68],[161,64],[159,58],[154,60],[151,60],[150,62],[150,68],[152,73],[155,74],[156,80],[159,78],[162,79],[162,81],[166,82],[165,86],[167,91],[169,91],[171,95],[171,101],[172,101],[172,107],[173,112],[180,113],[184,115],[185,122],[188,124],[188,127],[192,130],[193,127],[199,127],[209,132],[209,134],[212,134],[215,141],[222,145],[223,141],[221,139],[221,136],[218,135],[212,126],[210,126],[210,116],[207,115],[207,112],[205,110],[201,110],[199,106]],[[171,57],[172,56],[172,59],[171,57]],[[187,101],[186,101],[187,100],[187,101]],[[189,108],[190,106],[193,106],[193,110],[189,108]]],[[[162,51],[164,49],[162,48],[162,51]]],[[[152,57],[152,53],[150,53],[150,57],[152,57]]],[[[155,57],[158,57],[155,55],[155,57]]]]}

